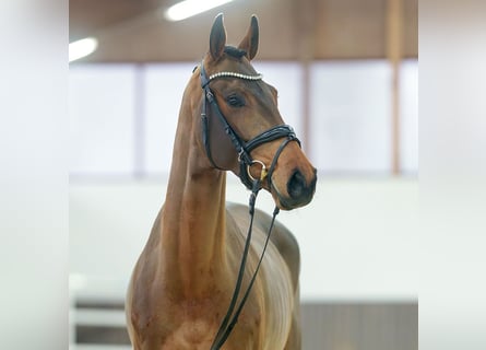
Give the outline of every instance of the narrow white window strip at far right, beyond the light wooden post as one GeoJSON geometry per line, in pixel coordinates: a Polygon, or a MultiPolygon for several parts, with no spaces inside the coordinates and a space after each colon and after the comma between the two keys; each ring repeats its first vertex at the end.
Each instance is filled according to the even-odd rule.
{"type": "Polygon", "coordinates": [[[418,172],[418,61],[406,60],[400,69],[400,167],[418,172]]]}

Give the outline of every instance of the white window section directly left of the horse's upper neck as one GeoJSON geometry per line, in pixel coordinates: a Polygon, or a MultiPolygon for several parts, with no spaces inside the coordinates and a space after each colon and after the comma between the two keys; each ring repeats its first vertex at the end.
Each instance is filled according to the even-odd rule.
{"type": "Polygon", "coordinates": [[[145,173],[167,174],[183,90],[194,63],[149,65],[145,68],[145,173]]]}

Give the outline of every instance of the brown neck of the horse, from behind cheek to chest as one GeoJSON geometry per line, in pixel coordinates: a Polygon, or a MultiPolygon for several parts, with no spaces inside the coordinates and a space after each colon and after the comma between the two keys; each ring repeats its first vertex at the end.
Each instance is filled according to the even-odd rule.
{"type": "Polygon", "coordinates": [[[198,294],[225,266],[226,173],[206,165],[195,141],[199,120],[194,121],[194,106],[188,100],[183,98],[179,115],[161,242],[167,276],[180,281],[181,292],[198,294]]]}

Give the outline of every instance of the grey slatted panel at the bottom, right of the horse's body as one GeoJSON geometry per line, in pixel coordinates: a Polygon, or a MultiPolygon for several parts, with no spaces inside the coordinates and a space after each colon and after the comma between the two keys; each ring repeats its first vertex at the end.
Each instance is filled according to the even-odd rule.
{"type": "Polygon", "coordinates": [[[416,303],[309,303],[301,306],[303,349],[416,350],[416,303]]]}

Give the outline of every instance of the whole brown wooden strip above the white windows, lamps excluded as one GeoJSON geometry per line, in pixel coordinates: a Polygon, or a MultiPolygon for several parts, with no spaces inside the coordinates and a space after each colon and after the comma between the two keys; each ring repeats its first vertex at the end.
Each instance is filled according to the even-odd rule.
{"type": "Polygon", "coordinates": [[[259,59],[384,58],[390,1],[401,3],[401,56],[417,57],[417,0],[236,0],[179,22],[163,16],[177,0],[70,0],[69,39],[98,38],[81,62],[194,61],[208,49],[217,13],[229,44],[239,43],[254,13],[259,59]]]}

